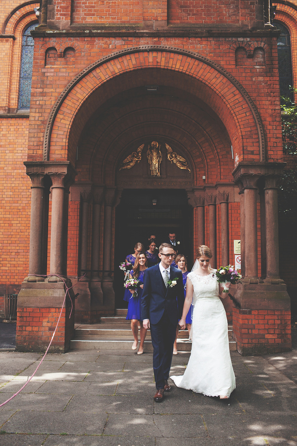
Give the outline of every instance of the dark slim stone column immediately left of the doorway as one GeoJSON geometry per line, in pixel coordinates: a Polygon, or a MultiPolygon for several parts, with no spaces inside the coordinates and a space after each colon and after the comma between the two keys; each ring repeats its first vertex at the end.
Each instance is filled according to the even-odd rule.
{"type": "Polygon", "coordinates": [[[103,306],[114,307],[113,272],[111,270],[111,240],[112,240],[112,211],[115,199],[115,187],[108,187],[105,191],[104,210],[104,249],[103,249],[103,306]]]}

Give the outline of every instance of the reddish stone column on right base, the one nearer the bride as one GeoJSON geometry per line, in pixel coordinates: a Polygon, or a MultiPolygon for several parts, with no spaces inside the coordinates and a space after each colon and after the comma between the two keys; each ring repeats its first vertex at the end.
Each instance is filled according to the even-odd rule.
{"type": "Polygon", "coordinates": [[[244,174],[241,181],[244,186],[244,266],[245,276],[250,283],[258,283],[258,240],[257,240],[257,198],[256,183],[260,175],[244,174]],[[248,244],[248,249],[246,249],[248,244]]]}

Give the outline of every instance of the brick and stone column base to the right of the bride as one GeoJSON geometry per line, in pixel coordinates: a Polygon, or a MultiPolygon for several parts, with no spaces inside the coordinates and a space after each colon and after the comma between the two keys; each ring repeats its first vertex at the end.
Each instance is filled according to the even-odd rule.
{"type": "MultiPolygon", "coordinates": [[[[248,278],[245,278],[248,279],[248,278]]],[[[236,285],[233,297],[233,337],[241,355],[266,355],[289,351],[291,309],[286,285],[271,283],[236,285]]]]}

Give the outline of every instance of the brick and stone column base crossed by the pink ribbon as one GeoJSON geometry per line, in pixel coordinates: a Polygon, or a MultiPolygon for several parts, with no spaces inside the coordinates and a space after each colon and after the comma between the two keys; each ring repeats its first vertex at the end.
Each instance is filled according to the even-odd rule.
{"type": "MultiPolygon", "coordinates": [[[[68,280],[67,285],[71,286],[68,280]]],[[[63,282],[23,282],[17,298],[16,350],[45,351],[65,297],[63,282]]],[[[74,293],[69,289],[49,352],[65,353],[74,335],[74,293]],[[71,315],[70,315],[71,314],[71,315]],[[70,316],[70,318],[69,318],[70,316]]]]}

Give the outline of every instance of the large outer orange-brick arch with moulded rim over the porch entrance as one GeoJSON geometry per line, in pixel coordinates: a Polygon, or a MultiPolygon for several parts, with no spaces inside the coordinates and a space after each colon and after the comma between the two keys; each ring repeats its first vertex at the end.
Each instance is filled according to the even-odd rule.
{"type": "MultiPolygon", "coordinates": [[[[62,92],[49,116],[44,161],[60,159],[73,162],[76,142],[85,123],[98,107],[98,101],[90,103],[91,96],[96,95],[104,103],[112,95],[108,88],[109,80],[131,73],[138,75],[139,82],[139,70],[146,68],[183,74],[183,88],[211,107],[225,125],[233,145],[235,163],[249,157],[264,161],[265,141],[260,116],[241,84],[222,67],[203,56],[162,46],[122,50],[102,58],[78,74],[62,92]],[[103,86],[106,89],[100,95],[99,87],[103,86]],[[80,118],[73,129],[78,115],[80,118]]],[[[122,83],[118,84],[125,88],[122,83]]]]}

